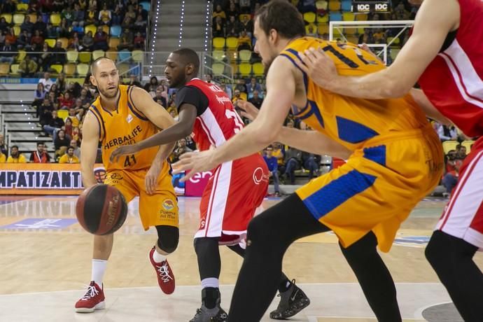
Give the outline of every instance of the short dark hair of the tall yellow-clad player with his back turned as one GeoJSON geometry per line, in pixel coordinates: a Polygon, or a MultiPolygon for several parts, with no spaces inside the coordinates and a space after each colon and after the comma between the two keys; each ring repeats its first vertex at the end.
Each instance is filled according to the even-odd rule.
{"type": "Polygon", "coordinates": [[[275,29],[283,38],[305,36],[305,23],[302,14],[286,0],[272,0],[265,3],[255,13],[260,28],[269,34],[275,29]]]}

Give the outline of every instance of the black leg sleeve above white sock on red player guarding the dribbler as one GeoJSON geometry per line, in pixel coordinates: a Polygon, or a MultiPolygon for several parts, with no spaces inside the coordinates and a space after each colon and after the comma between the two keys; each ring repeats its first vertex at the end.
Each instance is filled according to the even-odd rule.
{"type": "Polygon", "coordinates": [[[201,280],[210,277],[218,279],[220,276],[221,258],[218,241],[218,237],[195,238],[194,246],[201,280]]]}

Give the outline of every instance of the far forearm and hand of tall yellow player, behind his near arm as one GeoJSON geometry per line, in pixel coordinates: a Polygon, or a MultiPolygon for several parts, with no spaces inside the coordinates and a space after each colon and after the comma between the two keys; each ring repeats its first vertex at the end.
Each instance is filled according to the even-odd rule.
{"type": "MultiPolygon", "coordinates": [[[[250,102],[238,101],[238,107],[242,110],[241,115],[255,120],[258,116],[258,109],[250,102]]],[[[347,159],[351,155],[351,151],[338,144],[336,141],[326,137],[317,131],[298,130],[290,127],[282,127],[277,142],[281,142],[287,146],[293,146],[301,151],[314,153],[317,155],[332,155],[337,158],[347,159]]]]}

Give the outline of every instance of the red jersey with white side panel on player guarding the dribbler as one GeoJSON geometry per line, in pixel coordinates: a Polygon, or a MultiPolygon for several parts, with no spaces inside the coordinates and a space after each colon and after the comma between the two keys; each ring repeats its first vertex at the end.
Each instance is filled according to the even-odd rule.
{"type": "Polygon", "coordinates": [[[207,109],[199,113],[193,127],[193,139],[200,151],[221,146],[243,128],[243,120],[235,111],[232,100],[220,87],[199,78],[190,80],[186,86],[196,87],[208,99],[207,109]]]}

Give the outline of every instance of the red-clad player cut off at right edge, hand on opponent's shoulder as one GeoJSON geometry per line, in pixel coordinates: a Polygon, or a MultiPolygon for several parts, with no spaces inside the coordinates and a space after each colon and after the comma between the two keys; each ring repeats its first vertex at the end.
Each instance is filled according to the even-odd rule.
{"type": "Polygon", "coordinates": [[[365,99],[400,97],[418,82],[433,104],[466,135],[480,137],[466,157],[458,185],[426,247],[426,258],[465,321],[483,321],[483,274],[472,260],[483,248],[483,1],[422,3],[412,36],[388,68],[362,77],[339,76],[320,49],[301,55],[321,87],[365,99]]]}

